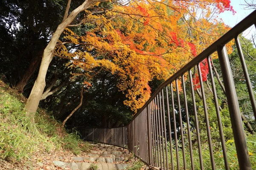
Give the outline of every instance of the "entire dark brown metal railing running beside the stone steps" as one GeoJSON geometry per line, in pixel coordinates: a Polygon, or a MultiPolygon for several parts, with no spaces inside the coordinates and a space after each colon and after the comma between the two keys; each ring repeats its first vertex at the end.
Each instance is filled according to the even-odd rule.
{"type": "MultiPolygon", "coordinates": [[[[245,139],[244,127],[241,120],[239,102],[236,94],[236,88],[233,80],[232,70],[230,67],[229,57],[225,44],[231,40],[235,40],[236,48],[241,61],[241,67],[244,79],[247,84],[248,94],[252,105],[254,119],[256,118],[256,103],[254,91],[250,82],[247,66],[242,53],[239,42],[239,34],[244,30],[253,26],[256,22],[256,11],[253,11],[248,17],[242,20],[234,28],[224,34],[220,39],[210,45],[206,50],[201,52],[197,57],[192,59],[188,64],[181,68],[172,77],[161,84],[151,98],[145,103],[140,111],[134,116],[127,127],[118,128],[87,128],[81,132],[82,137],[86,140],[99,141],[108,144],[114,144],[120,147],[127,147],[145,164],[161,167],[162,170],[169,169],[195,169],[195,156],[193,155],[192,134],[191,130],[195,129],[195,139],[197,140],[197,150],[200,162],[200,169],[204,168],[215,170],[215,157],[212,147],[212,137],[209,124],[209,116],[207,110],[207,101],[205,96],[204,84],[201,74],[200,62],[205,61],[204,66],[209,68],[208,78],[211,81],[212,97],[214,99],[216,117],[218,121],[219,139],[221,141],[222,154],[225,169],[228,170],[228,156],[226,143],[224,139],[223,126],[221,123],[220,106],[218,104],[218,96],[215,88],[214,74],[210,55],[217,51],[218,60],[221,67],[221,75],[224,81],[225,95],[227,98],[230,120],[233,129],[233,136],[236,145],[237,159],[241,170],[251,170],[251,163],[245,139]],[[206,59],[206,60],[205,60],[206,59]],[[207,64],[206,64],[207,63],[207,64]],[[192,73],[193,71],[193,73],[192,73]],[[201,93],[202,105],[197,105],[195,99],[195,85],[193,84],[193,75],[197,74],[200,82],[199,90],[201,93]],[[186,83],[190,85],[186,90],[186,83]],[[180,89],[181,88],[181,89],[180,89]],[[182,92],[182,93],[181,93],[182,92]],[[188,96],[186,92],[191,93],[191,101],[193,111],[188,111],[188,96]],[[181,101],[182,99],[182,101],[181,101]],[[181,105],[181,103],[183,103],[181,105]],[[182,108],[183,107],[183,108],[182,108]],[[206,124],[207,142],[209,145],[209,155],[211,167],[204,167],[204,160],[201,149],[201,140],[198,108],[203,108],[204,122],[206,124]],[[189,113],[193,112],[194,125],[191,124],[189,113]],[[186,118],[186,125],[183,123],[182,117],[186,118]],[[172,121],[171,121],[172,119],[172,121]],[[183,125],[184,124],[184,125],[183,125]],[[173,127],[173,129],[171,129],[173,127]],[[120,130],[123,129],[123,130],[120,130]],[[185,130],[186,128],[186,130],[185,130]],[[124,130],[125,129],[125,130],[124,130]],[[185,142],[184,132],[186,131],[188,139],[185,142]],[[97,137],[96,137],[97,136],[97,137]],[[174,136],[174,139],[172,139],[174,136]],[[117,142],[118,141],[118,142],[117,142]],[[174,145],[173,142],[174,141],[174,145]],[[180,145],[181,143],[181,145],[180,145]],[[181,149],[180,149],[181,148],[181,149]],[[189,149],[189,155],[186,155],[186,148],[189,149]],[[182,151],[182,152],[181,152],[182,151]],[[179,154],[182,153],[182,156],[179,154]],[[190,162],[186,161],[186,157],[190,157],[190,162]],[[183,167],[181,165],[183,164],[183,167]]],[[[198,93],[198,91],[197,91],[198,93]]],[[[208,160],[207,160],[208,161],[208,160]]],[[[238,167],[237,167],[238,168],[238,167]]],[[[199,168],[197,168],[199,169],[199,168]]]]}

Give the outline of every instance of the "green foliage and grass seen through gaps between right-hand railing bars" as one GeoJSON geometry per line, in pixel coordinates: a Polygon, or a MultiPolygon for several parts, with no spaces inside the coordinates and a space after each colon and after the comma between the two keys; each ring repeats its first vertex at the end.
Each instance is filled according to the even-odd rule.
{"type": "MultiPolygon", "coordinates": [[[[256,48],[253,47],[253,44],[241,37],[241,46],[246,51],[248,51],[248,54],[244,54],[245,62],[247,64],[248,73],[250,76],[251,84],[253,87],[254,92],[256,91],[256,62],[253,60],[256,56],[256,48]],[[245,42],[247,44],[245,44],[245,42]],[[250,56],[249,56],[250,55],[250,56]],[[253,57],[253,58],[252,58],[253,57]]],[[[244,79],[244,74],[241,68],[241,62],[239,59],[239,55],[237,50],[234,50],[232,54],[229,55],[230,64],[232,68],[232,74],[233,79],[236,85],[236,93],[239,100],[239,106],[241,114],[244,115],[244,117],[247,119],[247,121],[252,126],[252,129],[255,131],[256,124],[255,124],[255,118],[253,116],[252,106],[250,104],[250,98],[248,95],[247,85],[244,79]]],[[[216,74],[219,74],[220,81],[223,83],[222,77],[221,77],[221,68],[218,63],[218,59],[212,60],[215,68],[217,70],[217,73],[214,74],[214,82],[216,85],[216,93],[218,97],[218,105],[220,108],[218,110],[220,111],[221,116],[221,123],[224,133],[224,140],[226,142],[226,150],[227,150],[227,159],[229,163],[229,167],[231,170],[237,170],[239,169],[239,164],[237,160],[237,153],[236,153],[236,146],[234,143],[234,137],[233,137],[233,129],[230,121],[230,113],[227,105],[227,99],[224,94],[224,91],[221,88],[220,82],[218,82],[218,79],[216,78],[216,74]]],[[[196,101],[196,108],[197,108],[197,115],[198,115],[198,122],[195,122],[194,118],[194,109],[192,108],[192,98],[191,98],[191,89],[189,86],[189,81],[186,82],[186,92],[187,92],[187,102],[188,102],[188,112],[189,112],[189,123],[190,123],[190,131],[191,131],[191,139],[192,139],[192,153],[193,153],[193,161],[195,169],[200,169],[200,160],[199,160],[199,153],[198,153],[198,139],[196,136],[196,130],[195,130],[195,123],[198,123],[199,125],[199,131],[200,131],[200,141],[201,141],[201,153],[202,153],[202,160],[204,169],[211,169],[211,158],[209,153],[209,144],[208,144],[208,137],[207,137],[207,127],[206,127],[206,118],[204,113],[204,107],[201,97],[198,95],[201,93],[201,90],[198,89],[198,91],[195,91],[195,101],[196,101]]],[[[210,78],[208,76],[207,82],[204,82],[204,91],[205,91],[205,98],[206,98],[206,105],[207,105],[207,116],[209,119],[209,128],[211,133],[211,139],[212,139],[212,150],[214,155],[214,161],[215,161],[215,167],[217,170],[224,170],[224,156],[221,146],[221,139],[219,134],[219,127],[218,127],[218,119],[216,114],[216,108],[215,108],[215,101],[213,99],[213,94],[211,90],[211,82],[210,78]]],[[[256,94],[255,94],[256,96],[256,94]]],[[[177,96],[174,96],[175,99],[175,107],[177,107],[177,96]]],[[[170,99],[169,99],[170,101],[170,99]]],[[[186,159],[186,165],[187,169],[191,169],[191,160],[190,160],[190,150],[189,150],[189,142],[188,142],[188,130],[187,130],[187,124],[186,122],[186,116],[185,116],[185,108],[183,108],[183,94],[180,92],[180,101],[181,101],[181,113],[182,113],[182,120],[183,120],[183,133],[184,133],[184,142],[185,142],[185,159],[186,159]]],[[[172,119],[171,119],[172,120],[172,119]]],[[[177,118],[176,118],[177,121],[177,118]]],[[[172,124],[172,123],[171,123],[172,124]]],[[[177,127],[179,127],[179,124],[177,124],[177,127]]],[[[173,127],[172,127],[173,129],[173,127]]],[[[252,169],[256,169],[256,135],[251,134],[250,130],[248,130],[248,127],[244,124],[244,130],[246,133],[246,140],[247,140],[247,147],[249,151],[250,161],[252,164],[252,169]]],[[[179,130],[177,130],[178,137],[180,138],[179,130]]],[[[174,140],[174,136],[172,136],[172,139],[174,140]]],[[[178,157],[179,157],[179,165],[181,169],[183,168],[183,152],[182,152],[182,146],[181,141],[178,139],[178,157]]],[[[168,149],[170,152],[170,143],[168,142],[168,149]]],[[[177,152],[175,150],[175,142],[172,141],[172,150],[173,150],[173,160],[174,160],[174,167],[177,167],[177,152]]],[[[169,155],[169,164],[171,166],[171,153],[169,155]]]]}

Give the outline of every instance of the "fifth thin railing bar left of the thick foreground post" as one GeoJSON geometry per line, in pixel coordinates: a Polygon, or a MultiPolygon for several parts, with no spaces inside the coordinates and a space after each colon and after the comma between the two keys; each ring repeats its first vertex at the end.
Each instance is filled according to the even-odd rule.
{"type": "Polygon", "coordinates": [[[179,120],[180,120],[180,139],[182,144],[182,153],[183,153],[183,167],[186,170],[186,153],[185,153],[185,144],[184,144],[184,136],[183,136],[183,125],[182,125],[182,116],[181,116],[181,109],[180,109],[180,92],[179,92],[179,85],[178,79],[176,79],[176,92],[177,92],[177,102],[178,102],[178,111],[179,111],[179,120]]]}

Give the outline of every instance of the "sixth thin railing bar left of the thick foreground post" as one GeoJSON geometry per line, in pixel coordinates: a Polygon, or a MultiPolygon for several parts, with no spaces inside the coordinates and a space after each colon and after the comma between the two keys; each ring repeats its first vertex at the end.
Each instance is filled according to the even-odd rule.
{"type": "Polygon", "coordinates": [[[175,148],[176,148],[176,158],[177,158],[177,170],[180,170],[179,148],[178,148],[178,139],[177,139],[177,127],[176,127],[176,116],[175,116],[175,106],[174,106],[172,82],[170,84],[170,87],[171,87],[171,96],[172,96],[172,117],[173,117],[173,126],[174,126],[175,148]]]}

